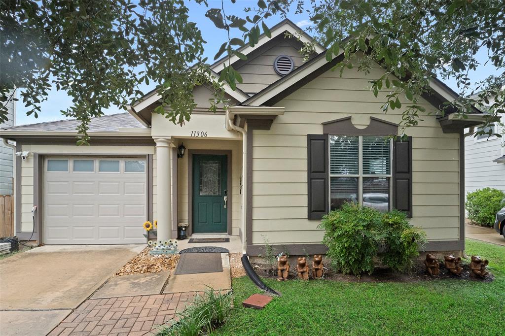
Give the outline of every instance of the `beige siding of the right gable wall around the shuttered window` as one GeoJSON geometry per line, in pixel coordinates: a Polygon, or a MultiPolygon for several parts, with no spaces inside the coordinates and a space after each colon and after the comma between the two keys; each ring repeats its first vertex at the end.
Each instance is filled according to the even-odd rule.
{"type": "MultiPolygon", "coordinates": [[[[322,134],[321,123],[351,116],[364,128],[370,117],[400,123],[401,110],[381,110],[386,90],[375,98],[371,74],[354,69],[328,71],[276,106],[286,108],[270,130],[253,133],[252,243],[320,243],[319,220],[307,219],[307,134],[322,134]]],[[[403,98],[403,102],[406,102],[403,98]]],[[[435,108],[421,99],[428,112],[435,108]]],[[[459,135],[444,134],[433,115],[422,116],[413,136],[413,215],[429,240],[458,240],[460,236],[459,135]]]]}

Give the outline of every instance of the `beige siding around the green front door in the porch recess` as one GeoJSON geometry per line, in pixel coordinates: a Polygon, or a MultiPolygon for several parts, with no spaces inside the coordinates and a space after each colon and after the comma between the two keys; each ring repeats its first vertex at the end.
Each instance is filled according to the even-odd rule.
{"type": "MultiPolygon", "coordinates": [[[[240,181],[242,175],[242,142],[230,140],[195,140],[184,139],[186,153],[194,149],[203,150],[231,150],[232,159],[232,235],[238,235],[242,225],[242,195],[240,194],[240,181]]],[[[184,155],[177,162],[177,221],[188,221],[188,162],[189,155],[184,155]]],[[[190,223],[191,224],[191,223],[190,223]]]]}

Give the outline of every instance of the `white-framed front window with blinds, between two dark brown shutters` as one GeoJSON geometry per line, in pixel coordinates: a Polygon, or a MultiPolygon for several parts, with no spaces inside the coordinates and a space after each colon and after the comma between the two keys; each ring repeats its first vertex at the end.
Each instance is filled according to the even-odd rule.
{"type": "Polygon", "coordinates": [[[389,210],[391,140],[374,136],[330,136],[330,209],[357,202],[389,210]]]}

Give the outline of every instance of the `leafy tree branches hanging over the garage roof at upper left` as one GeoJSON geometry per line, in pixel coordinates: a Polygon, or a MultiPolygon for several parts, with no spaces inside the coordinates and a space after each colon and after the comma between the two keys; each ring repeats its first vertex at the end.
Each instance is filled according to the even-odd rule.
{"type": "Polygon", "coordinates": [[[183,0],[0,0],[0,20],[0,101],[24,88],[28,115],[37,117],[52,84],[67,91],[73,105],[62,113],[82,121],[80,143],[90,118],[111,105],[126,109],[143,95],[141,83],[156,84],[163,102],[157,112],[181,125],[195,106],[196,85],[215,88],[213,106],[222,100],[183,0]]]}

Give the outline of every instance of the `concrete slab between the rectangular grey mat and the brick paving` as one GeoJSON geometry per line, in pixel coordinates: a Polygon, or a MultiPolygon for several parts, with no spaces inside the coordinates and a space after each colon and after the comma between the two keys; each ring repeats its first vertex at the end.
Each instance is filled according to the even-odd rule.
{"type": "Polygon", "coordinates": [[[231,288],[230,268],[222,272],[172,275],[163,294],[229,290],[231,288]]]}

